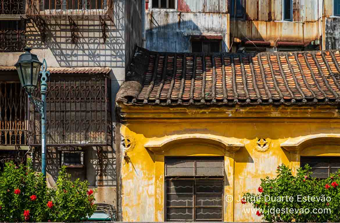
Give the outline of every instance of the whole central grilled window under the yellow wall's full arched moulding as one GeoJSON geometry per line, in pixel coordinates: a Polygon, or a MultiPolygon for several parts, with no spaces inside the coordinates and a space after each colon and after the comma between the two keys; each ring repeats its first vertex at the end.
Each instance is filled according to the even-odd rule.
{"type": "Polygon", "coordinates": [[[223,157],[166,157],[166,221],[223,221],[223,157]]]}

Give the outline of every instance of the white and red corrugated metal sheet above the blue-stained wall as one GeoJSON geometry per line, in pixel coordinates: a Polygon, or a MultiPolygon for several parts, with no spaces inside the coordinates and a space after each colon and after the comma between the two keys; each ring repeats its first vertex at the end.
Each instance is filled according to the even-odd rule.
{"type": "Polygon", "coordinates": [[[227,13],[227,0],[177,0],[180,12],[227,13]]]}

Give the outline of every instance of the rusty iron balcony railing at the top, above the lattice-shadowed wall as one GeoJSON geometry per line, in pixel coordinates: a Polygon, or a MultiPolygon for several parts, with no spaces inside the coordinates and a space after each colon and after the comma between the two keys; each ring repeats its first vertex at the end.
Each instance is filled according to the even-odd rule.
{"type": "Polygon", "coordinates": [[[112,19],[113,0],[27,0],[26,14],[108,16],[112,19]]]}

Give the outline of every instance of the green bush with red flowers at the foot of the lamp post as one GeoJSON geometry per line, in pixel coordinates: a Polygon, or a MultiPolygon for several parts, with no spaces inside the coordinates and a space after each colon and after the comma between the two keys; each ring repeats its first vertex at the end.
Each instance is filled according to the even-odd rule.
{"type": "Polygon", "coordinates": [[[0,221],[81,221],[91,216],[94,193],[87,181],[70,180],[66,167],[59,172],[55,188],[48,188],[45,177],[28,166],[5,164],[0,172],[0,221]]]}

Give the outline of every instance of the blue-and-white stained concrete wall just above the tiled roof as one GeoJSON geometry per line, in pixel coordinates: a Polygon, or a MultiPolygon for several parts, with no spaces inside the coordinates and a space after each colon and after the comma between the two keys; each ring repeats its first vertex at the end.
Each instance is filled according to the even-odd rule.
{"type": "Polygon", "coordinates": [[[222,35],[222,51],[227,52],[228,16],[155,8],[147,10],[145,46],[152,51],[190,52],[190,35],[222,35]]]}

